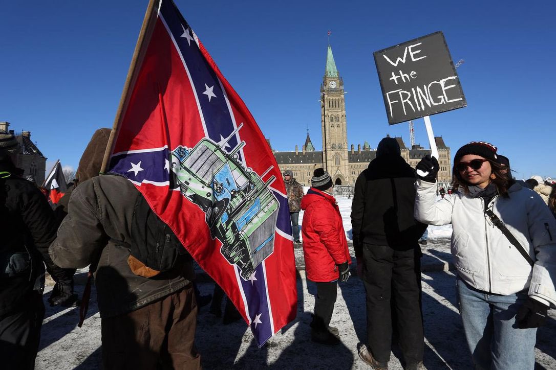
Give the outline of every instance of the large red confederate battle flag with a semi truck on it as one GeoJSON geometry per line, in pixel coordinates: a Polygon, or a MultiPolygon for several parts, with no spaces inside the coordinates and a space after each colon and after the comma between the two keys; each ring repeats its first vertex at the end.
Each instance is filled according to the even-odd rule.
{"type": "Polygon", "coordinates": [[[262,346],[297,306],[284,183],[255,119],[172,1],[150,3],[112,135],[107,171],[137,186],[262,346]]]}

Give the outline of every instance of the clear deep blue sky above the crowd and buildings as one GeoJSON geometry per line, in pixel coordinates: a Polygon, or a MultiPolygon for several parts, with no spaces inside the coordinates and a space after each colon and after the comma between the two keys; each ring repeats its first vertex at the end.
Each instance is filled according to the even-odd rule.
{"type": "MultiPolygon", "coordinates": [[[[0,121],[30,130],[48,165],[77,167],[111,127],[147,1],[0,0],[0,121]]],[[[553,2],[203,1],[176,4],[244,99],[273,149],[309,128],[321,149],[319,88],[328,30],[347,92],[347,142],[372,148],[388,125],[373,52],[443,31],[468,107],[431,116],[451,155],[472,140],[510,158],[518,178],[556,177],[553,2]]],[[[416,143],[428,148],[423,119],[416,143]]],[[[47,167],[48,167],[47,165],[47,167]]]]}

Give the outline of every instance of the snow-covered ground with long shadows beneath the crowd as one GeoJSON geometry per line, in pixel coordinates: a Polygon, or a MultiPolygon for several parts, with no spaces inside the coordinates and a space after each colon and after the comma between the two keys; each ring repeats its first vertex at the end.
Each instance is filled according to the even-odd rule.
{"type": "MultiPolygon", "coordinates": [[[[337,198],[347,239],[351,240],[351,199],[337,198]]],[[[300,224],[302,222],[302,212],[300,224]]],[[[423,315],[425,328],[425,365],[430,369],[472,368],[465,343],[461,319],[455,302],[454,275],[448,270],[451,259],[449,238],[451,225],[429,226],[429,244],[422,246],[424,257],[423,315]],[[440,267],[436,269],[435,267],[440,267]]],[[[351,245],[351,242],[349,242],[351,245]]],[[[301,247],[296,247],[296,256],[301,247]]],[[[352,251],[353,254],[353,251],[352,251]]],[[[299,264],[298,264],[299,266],[299,264]]],[[[76,274],[76,292],[83,291],[86,270],[76,274]]],[[[316,287],[306,281],[301,271],[297,279],[297,317],[272,337],[262,348],[257,348],[245,322],[223,325],[221,318],[200,310],[197,320],[196,344],[205,369],[368,369],[357,354],[358,342],[366,342],[365,292],[363,283],[351,277],[340,284],[332,326],[340,330],[342,343],[327,347],[310,341],[311,312],[316,287]]],[[[212,293],[214,283],[199,282],[203,295],[212,293]]],[[[87,319],[81,328],[78,308],[48,307],[46,299],[52,286],[47,286],[44,301],[46,318],[36,368],[41,369],[98,369],[101,368],[101,319],[93,287],[87,319]]],[[[556,369],[556,310],[549,311],[547,325],[539,329],[535,349],[535,369],[556,369]]],[[[401,353],[397,346],[389,368],[402,369],[401,353]]]]}

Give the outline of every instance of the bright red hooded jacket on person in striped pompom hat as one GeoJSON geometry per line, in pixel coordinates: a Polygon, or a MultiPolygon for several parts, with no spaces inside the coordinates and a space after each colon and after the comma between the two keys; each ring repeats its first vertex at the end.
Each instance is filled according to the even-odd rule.
{"type": "Polygon", "coordinates": [[[311,187],[301,199],[303,254],[307,278],[315,282],[337,280],[336,265],[351,263],[346,233],[334,196],[311,187]]]}

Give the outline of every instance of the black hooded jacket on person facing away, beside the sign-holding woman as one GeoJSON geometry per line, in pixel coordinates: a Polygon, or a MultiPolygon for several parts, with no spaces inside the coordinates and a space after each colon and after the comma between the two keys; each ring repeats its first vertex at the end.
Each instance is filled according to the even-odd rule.
{"type": "Polygon", "coordinates": [[[413,217],[415,170],[400,155],[394,138],[384,138],[355,183],[351,225],[355,256],[363,255],[363,243],[413,249],[426,229],[413,217]]]}

